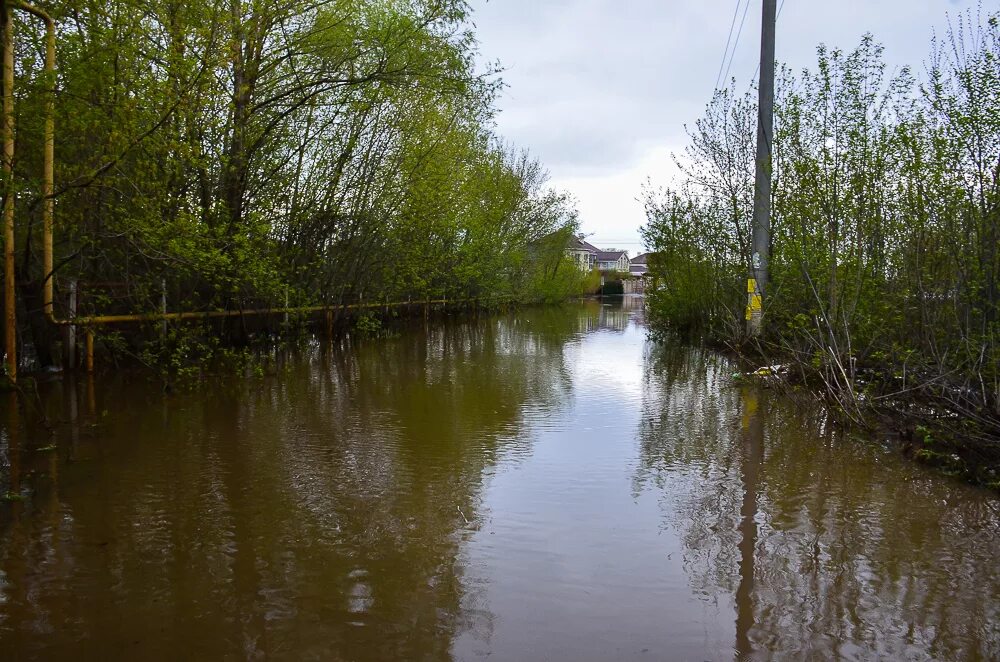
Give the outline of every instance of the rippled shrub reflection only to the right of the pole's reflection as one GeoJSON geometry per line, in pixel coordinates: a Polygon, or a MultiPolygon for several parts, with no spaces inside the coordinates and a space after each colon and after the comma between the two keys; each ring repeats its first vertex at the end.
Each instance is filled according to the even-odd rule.
{"type": "Polygon", "coordinates": [[[759,548],[782,582],[758,583],[773,623],[759,645],[1000,657],[1000,504],[878,457],[821,412],[783,405],[765,421],[771,505],[759,548]]]}

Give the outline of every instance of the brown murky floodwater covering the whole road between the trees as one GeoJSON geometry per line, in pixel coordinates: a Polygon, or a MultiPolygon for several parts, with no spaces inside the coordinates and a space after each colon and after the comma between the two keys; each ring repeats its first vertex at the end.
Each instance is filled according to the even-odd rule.
{"type": "Polygon", "coordinates": [[[0,401],[0,658],[1000,658],[1000,501],[639,301],[0,401]]]}

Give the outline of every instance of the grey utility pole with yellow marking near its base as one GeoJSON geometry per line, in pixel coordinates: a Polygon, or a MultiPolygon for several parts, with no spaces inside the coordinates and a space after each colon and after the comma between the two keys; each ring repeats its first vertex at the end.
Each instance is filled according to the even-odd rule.
{"type": "Polygon", "coordinates": [[[771,256],[771,141],[774,138],[774,32],[777,0],[764,0],[757,98],[757,172],[753,191],[753,239],[747,278],[747,334],[760,336],[771,256]]]}

